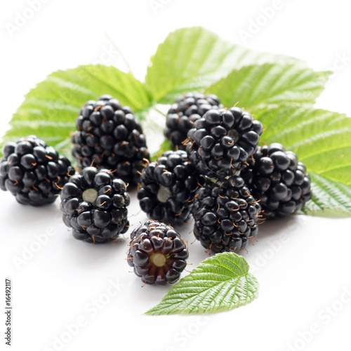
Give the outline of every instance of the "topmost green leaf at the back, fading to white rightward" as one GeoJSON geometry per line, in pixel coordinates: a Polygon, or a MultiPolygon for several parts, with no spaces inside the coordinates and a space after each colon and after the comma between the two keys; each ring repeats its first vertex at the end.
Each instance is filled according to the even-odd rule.
{"type": "Polygon", "coordinates": [[[182,28],[168,34],[147,68],[145,82],[154,100],[172,103],[175,95],[201,91],[232,69],[265,62],[295,62],[296,58],[260,53],[220,39],[201,27],[182,28]]]}

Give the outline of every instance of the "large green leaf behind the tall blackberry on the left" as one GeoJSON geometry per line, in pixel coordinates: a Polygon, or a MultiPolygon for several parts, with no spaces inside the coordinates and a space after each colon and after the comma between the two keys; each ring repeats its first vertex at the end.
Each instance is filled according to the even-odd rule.
{"type": "Polygon", "coordinates": [[[145,85],[115,67],[85,65],[53,72],[26,95],[1,146],[35,134],[58,152],[69,155],[69,133],[75,129],[80,108],[103,94],[112,95],[140,114],[152,105],[145,85]]]}

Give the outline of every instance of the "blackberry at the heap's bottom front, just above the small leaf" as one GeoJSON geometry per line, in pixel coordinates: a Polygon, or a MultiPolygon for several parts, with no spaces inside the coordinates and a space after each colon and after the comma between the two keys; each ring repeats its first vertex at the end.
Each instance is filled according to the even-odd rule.
{"type": "Polygon", "coordinates": [[[257,236],[260,211],[239,176],[208,179],[194,197],[194,235],[210,253],[238,252],[257,236]]]}

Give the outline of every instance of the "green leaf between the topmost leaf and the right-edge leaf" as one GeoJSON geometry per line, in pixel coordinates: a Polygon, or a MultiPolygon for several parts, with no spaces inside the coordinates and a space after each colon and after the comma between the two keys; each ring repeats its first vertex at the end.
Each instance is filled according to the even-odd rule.
{"type": "Polygon", "coordinates": [[[281,103],[310,103],[324,89],[331,72],[314,72],[298,63],[265,63],[234,69],[226,78],[206,89],[218,95],[223,105],[239,102],[250,110],[253,106],[281,103]]]}

